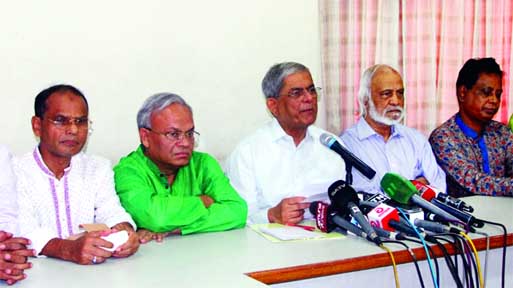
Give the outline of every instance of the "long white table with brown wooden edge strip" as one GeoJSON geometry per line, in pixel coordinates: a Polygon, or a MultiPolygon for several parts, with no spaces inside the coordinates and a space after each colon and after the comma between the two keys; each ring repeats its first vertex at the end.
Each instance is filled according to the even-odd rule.
{"type": "MultiPolygon", "coordinates": [[[[476,211],[473,214],[476,217],[504,224],[510,233],[508,245],[513,245],[513,198],[473,196],[465,198],[465,201],[474,206],[476,211]]],[[[492,248],[502,247],[498,229],[486,225],[483,231],[495,235],[492,237],[492,248]]],[[[482,250],[484,239],[475,234],[472,237],[478,249],[482,250]]],[[[400,267],[413,267],[404,248],[387,246],[395,250],[398,263],[405,263],[400,267]]],[[[498,255],[494,257],[499,257],[501,251],[494,250],[498,255]]],[[[513,287],[513,253],[508,252],[506,287],[513,287]]],[[[423,250],[416,249],[415,253],[417,258],[425,258],[423,250]]],[[[26,271],[28,278],[19,286],[266,287],[263,283],[301,281],[313,277],[321,277],[317,279],[320,283],[323,283],[322,277],[339,277],[337,281],[344,283],[346,275],[347,279],[351,279],[349,275],[362,273],[369,278],[369,275],[374,277],[377,276],[375,273],[379,273],[387,279],[381,287],[393,287],[390,258],[382,249],[364,239],[347,236],[334,240],[272,243],[250,228],[171,236],[163,243],[141,245],[139,251],[129,258],[109,259],[101,265],[82,266],[50,258],[33,259],[32,262],[34,267],[26,271]]],[[[445,268],[443,260],[440,267],[445,268]]],[[[427,268],[422,269],[427,272],[427,268]]],[[[498,273],[497,269],[494,270],[489,271],[489,275],[498,273]]],[[[401,279],[404,276],[402,273],[400,270],[401,279]]],[[[430,287],[427,276],[424,276],[424,282],[430,287]]],[[[296,287],[304,287],[301,284],[304,282],[297,283],[296,287]]],[[[401,282],[404,287],[409,286],[407,283],[401,282]]],[[[294,287],[294,282],[284,285],[294,287]]],[[[358,284],[351,283],[350,286],[358,287],[358,284]]]]}

